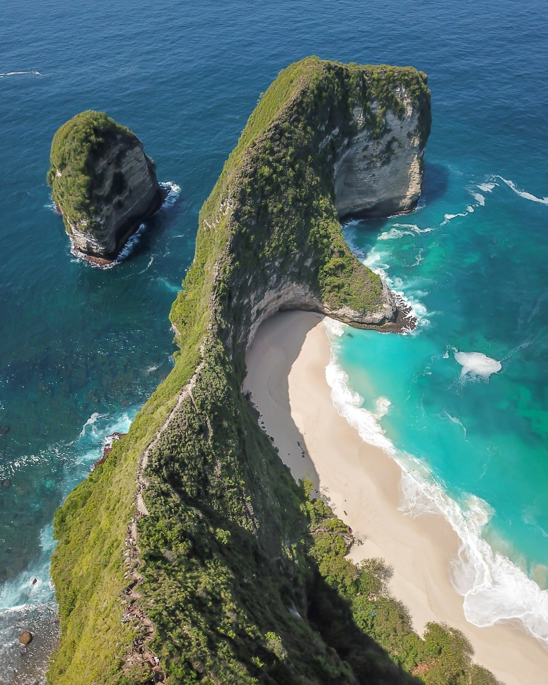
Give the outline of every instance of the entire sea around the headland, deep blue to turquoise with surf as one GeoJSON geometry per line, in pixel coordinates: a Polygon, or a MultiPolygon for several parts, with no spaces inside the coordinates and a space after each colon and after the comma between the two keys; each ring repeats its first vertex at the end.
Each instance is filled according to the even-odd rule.
{"type": "Polygon", "coordinates": [[[345,227],[360,258],[412,303],[419,327],[334,336],[340,410],[346,403],[364,437],[413,474],[403,482],[408,506],[441,507],[459,530],[454,575],[469,619],[521,616],[548,639],[547,36],[538,0],[4,3],[6,682],[40,671],[55,636],[55,508],[171,369],[168,312],[199,208],[260,93],[310,54],[411,64],[432,90],[419,209],[345,227]],[[175,188],[108,270],[71,256],[45,182],[55,130],[87,109],[129,126],[175,188]],[[348,388],[358,395],[349,400],[348,388]],[[17,643],[26,628],[32,651],[17,643]]]}

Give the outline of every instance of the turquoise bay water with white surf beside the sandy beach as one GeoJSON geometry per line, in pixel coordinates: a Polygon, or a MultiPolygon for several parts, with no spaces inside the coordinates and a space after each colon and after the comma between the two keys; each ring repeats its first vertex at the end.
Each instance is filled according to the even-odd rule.
{"type": "Polygon", "coordinates": [[[444,197],[347,226],[349,244],[403,292],[419,325],[407,336],[346,329],[334,344],[377,419],[364,437],[416,469],[404,481],[410,509],[437,505],[462,537],[455,581],[469,620],[519,617],[546,640],[547,593],[527,580],[546,588],[548,578],[548,288],[538,259],[548,201],[538,199],[499,175],[449,169],[444,197]],[[526,239],[516,235],[525,227],[526,239]]]}

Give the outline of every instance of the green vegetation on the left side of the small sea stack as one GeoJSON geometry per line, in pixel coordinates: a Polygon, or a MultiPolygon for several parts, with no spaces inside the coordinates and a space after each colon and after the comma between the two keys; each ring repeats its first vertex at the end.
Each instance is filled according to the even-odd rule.
{"type": "Polygon", "coordinates": [[[127,127],[117,124],[104,112],[92,110],[73,116],[53,136],[47,182],[69,233],[67,217],[73,223],[85,221],[86,229],[93,232],[93,190],[101,181],[94,173],[94,162],[119,136],[133,144],[137,142],[127,127]]]}

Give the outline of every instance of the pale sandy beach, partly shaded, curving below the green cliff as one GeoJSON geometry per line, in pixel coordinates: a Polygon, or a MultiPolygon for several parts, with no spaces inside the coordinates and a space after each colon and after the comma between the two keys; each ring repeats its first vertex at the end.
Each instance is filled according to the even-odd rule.
{"type": "Polygon", "coordinates": [[[247,350],[244,389],[260,411],[260,425],[295,479],[308,475],[319,490],[314,494],[363,541],[352,548],[352,560],[377,556],[393,567],[390,588],[419,634],[428,621],[447,623],[469,638],[473,660],[506,685],[545,683],[548,650],[532,636],[509,623],[478,628],[466,621],[449,575],[456,532],[441,514],[413,519],[398,509],[399,466],[364,443],[336,411],[325,380],[331,347],[322,320],[311,312],[283,312],[258,329],[247,350]]]}

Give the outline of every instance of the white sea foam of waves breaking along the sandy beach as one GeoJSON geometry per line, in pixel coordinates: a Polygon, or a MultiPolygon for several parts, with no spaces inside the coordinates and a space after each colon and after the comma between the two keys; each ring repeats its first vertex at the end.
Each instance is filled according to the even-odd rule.
{"type": "MultiPolygon", "coordinates": [[[[383,449],[401,467],[401,510],[412,516],[441,513],[460,538],[458,556],[451,564],[451,580],[456,591],[464,597],[466,620],[478,627],[510,619],[521,621],[527,632],[548,645],[548,591],[542,590],[506,556],[494,551],[482,536],[493,516],[493,509],[475,495],[464,495],[459,504],[449,497],[425,464],[395,447],[379,424],[379,418],[384,415],[383,411],[388,410],[390,401],[379,398],[376,412],[362,407],[362,397],[352,390],[349,377],[336,358],[338,338],[347,325],[327,318],[324,321],[332,343],[325,377],[336,410],[358,431],[362,440],[383,449]]],[[[481,370],[493,369],[490,373],[496,373],[494,367],[499,362],[485,355],[482,357],[489,362],[485,364],[482,361],[481,370]]],[[[479,369],[477,358],[472,366],[479,369]]],[[[452,421],[455,417],[448,418],[452,421]]],[[[457,419],[455,423],[460,421],[457,419]]]]}

